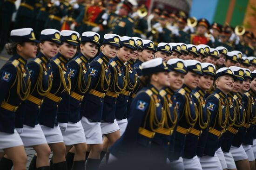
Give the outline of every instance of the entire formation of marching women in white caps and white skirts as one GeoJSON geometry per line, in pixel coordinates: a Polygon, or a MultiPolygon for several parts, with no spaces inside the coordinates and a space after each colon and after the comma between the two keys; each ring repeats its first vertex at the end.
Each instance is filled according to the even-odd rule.
{"type": "Polygon", "coordinates": [[[97,170],[105,155],[174,170],[255,170],[256,70],[215,66],[238,54],[102,39],[46,29],[38,41],[31,28],[11,31],[13,57],[0,69],[1,169],[25,170],[24,147],[33,147],[29,170],[97,170]]]}

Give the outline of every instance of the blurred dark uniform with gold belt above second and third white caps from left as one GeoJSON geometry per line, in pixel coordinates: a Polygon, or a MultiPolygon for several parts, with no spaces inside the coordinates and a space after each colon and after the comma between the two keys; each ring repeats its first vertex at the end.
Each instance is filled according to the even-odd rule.
{"type": "Polygon", "coordinates": [[[61,30],[61,19],[67,15],[67,8],[69,4],[67,2],[61,2],[59,6],[53,5],[50,7],[48,13],[49,16],[45,23],[45,28],[53,28],[61,30]]]}

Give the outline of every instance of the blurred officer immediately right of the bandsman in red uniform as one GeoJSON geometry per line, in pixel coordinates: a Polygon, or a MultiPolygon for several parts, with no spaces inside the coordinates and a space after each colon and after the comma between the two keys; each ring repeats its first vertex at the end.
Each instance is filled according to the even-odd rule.
{"type": "Polygon", "coordinates": [[[221,43],[219,42],[219,36],[222,32],[222,25],[215,22],[211,25],[211,30],[212,37],[208,41],[207,45],[209,45],[211,48],[216,48],[221,45],[221,43]]]}

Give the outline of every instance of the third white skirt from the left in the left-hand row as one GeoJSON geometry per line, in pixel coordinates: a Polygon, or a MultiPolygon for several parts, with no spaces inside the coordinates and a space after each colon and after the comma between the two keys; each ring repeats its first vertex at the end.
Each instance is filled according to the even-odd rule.
{"type": "Polygon", "coordinates": [[[48,144],[56,144],[63,142],[61,128],[59,125],[54,125],[54,128],[41,125],[41,128],[44,132],[44,136],[48,144]]]}

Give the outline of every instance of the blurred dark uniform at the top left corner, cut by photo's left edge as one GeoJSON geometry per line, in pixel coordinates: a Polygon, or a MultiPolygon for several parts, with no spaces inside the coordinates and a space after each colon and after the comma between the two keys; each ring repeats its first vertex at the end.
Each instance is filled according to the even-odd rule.
{"type": "Polygon", "coordinates": [[[16,11],[14,4],[15,0],[1,0],[0,7],[0,52],[3,50],[8,35],[10,35],[10,26],[12,21],[12,15],[16,11]]]}

